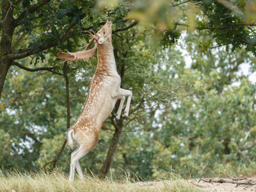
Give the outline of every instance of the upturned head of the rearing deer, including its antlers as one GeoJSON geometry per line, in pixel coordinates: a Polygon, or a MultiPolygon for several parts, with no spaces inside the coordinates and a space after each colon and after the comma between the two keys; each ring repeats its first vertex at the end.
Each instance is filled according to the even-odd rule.
{"type": "Polygon", "coordinates": [[[111,26],[112,26],[112,22],[108,20],[106,24],[104,24],[104,26],[97,33],[92,31],[94,35],[92,35],[92,33],[90,33],[89,31],[87,31],[92,36],[92,39],[90,40],[89,44],[86,44],[86,48],[83,51],[77,51],[77,52],[61,52],[60,51],[58,54],[59,56],[58,58],[61,60],[64,60],[62,63],[66,61],[79,61],[79,60],[92,58],[98,45],[102,45],[104,44],[104,42],[109,42],[109,41],[111,42],[111,35],[112,35],[111,26]],[[95,46],[92,49],[88,50],[88,48],[93,42],[95,42],[95,46]]]}

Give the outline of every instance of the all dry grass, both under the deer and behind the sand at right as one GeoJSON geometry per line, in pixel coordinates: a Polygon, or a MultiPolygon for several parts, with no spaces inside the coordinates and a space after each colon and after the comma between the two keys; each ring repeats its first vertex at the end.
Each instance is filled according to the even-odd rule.
{"type": "MultiPolygon", "coordinates": [[[[230,178],[255,175],[256,163],[250,166],[228,164],[208,170],[204,177],[230,178]]],[[[99,179],[93,173],[86,175],[84,180],[76,176],[74,182],[69,182],[67,173],[57,171],[51,173],[0,171],[0,191],[204,191],[183,178],[179,174],[161,170],[158,179],[146,182],[141,182],[137,175],[134,175],[133,179],[127,175],[123,179],[113,179],[110,174],[106,179],[99,179]]]]}

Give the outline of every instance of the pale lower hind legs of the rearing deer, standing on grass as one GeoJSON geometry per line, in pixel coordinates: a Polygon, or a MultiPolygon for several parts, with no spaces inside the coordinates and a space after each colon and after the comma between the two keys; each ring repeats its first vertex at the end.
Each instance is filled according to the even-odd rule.
{"type": "Polygon", "coordinates": [[[83,179],[83,172],[81,169],[81,166],[79,164],[79,159],[81,159],[83,156],[85,156],[89,151],[84,150],[83,147],[78,147],[74,152],[71,154],[71,163],[70,163],[70,175],[69,180],[74,180],[75,175],[75,168],[77,170],[77,173],[81,179],[83,179]]]}

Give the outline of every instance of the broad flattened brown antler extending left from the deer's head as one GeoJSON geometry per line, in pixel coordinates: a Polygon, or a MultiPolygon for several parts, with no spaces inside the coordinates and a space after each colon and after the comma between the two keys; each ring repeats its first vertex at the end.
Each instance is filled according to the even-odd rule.
{"type": "Polygon", "coordinates": [[[92,58],[92,56],[94,55],[97,49],[97,43],[92,49],[90,50],[86,50],[86,49],[88,49],[87,46],[83,51],[77,51],[77,52],[61,52],[60,51],[58,54],[59,56],[58,58],[61,60],[64,60],[62,63],[66,61],[80,61],[80,60],[92,58]]]}

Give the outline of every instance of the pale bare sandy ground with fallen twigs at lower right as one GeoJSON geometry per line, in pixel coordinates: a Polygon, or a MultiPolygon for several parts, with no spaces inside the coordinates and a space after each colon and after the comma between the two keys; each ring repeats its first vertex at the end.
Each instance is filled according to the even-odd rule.
{"type": "MultiPolygon", "coordinates": [[[[218,191],[218,192],[238,192],[238,191],[256,191],[256,177],[247,177],[246,179],[234,180],[228,178],[207,178],[200,180],[199,179],[189,179],[183,180],[189,184],[195,185],[195,187],[201,188],[205,191],[218,191]],[[205,182],[204,180],[208,181],[205,182]],[[211,180],[211,182],[209,182],[211,180]],[[221,183],[222,182],[222,183],[221,183]],[[229,183],[234,182],[234,183],[229,183]],[[237,185],[238,183],[238,185],[237,185]],[[246,184],[241,184],[246,183],[246,184]],[[250,185],[253,184],[253,185],[250,185]]],[[[136,184],[140,186],[150,186],[151,188],[161,188],[164,186],[164,182],[168,181],[156,181],[156,182],[138,182],[136,184]]]]}

